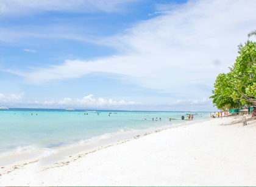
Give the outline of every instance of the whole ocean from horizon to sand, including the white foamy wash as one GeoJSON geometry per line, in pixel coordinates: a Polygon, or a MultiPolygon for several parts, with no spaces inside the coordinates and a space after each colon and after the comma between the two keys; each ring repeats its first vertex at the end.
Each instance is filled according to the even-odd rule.
{"type": "MultiPolygon", "coordinates": [[[[72,152],[71,147],[91,149],[155,129],[187,124],[191,121],[169,121],[169,118],[180,118],[187,113],[190,112],[0,110],[0,164],[6,164],[6,158],[12,163],[19,159],[48,157],[57,152],[62,152],[64,157],[78,151],[73,149],[72,152]],[[69,152],[63,153],[67,147],[69,152]]],[[[210,118],[207,112],[197,114],[193,121],[210,118]]]]}

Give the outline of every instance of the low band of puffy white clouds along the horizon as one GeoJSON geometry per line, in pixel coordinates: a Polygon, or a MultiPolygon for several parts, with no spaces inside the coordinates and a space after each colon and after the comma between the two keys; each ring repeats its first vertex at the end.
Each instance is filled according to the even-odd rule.
{"type": "MultiPolygon", "coordinates": [[[[123,99],[116,101],[114,99],[105,99],[102,97],[94,97],[93,94],[82,98],[55,99],[51,101],[27,101],[22,95],[18,94],[2,94],[0,93],[0,107],[24,107],[24,108],[95,108],[95,109],[110,109],[110,110],[173,110],[173,111],[190,111],[210,110],[212,99],[203,97],[201,99],[179,99],[165,104],[143,104],[141,102],[124,101],[123,99]]],[[[212,108],[213,110],[213,108],[212,108]]]]}

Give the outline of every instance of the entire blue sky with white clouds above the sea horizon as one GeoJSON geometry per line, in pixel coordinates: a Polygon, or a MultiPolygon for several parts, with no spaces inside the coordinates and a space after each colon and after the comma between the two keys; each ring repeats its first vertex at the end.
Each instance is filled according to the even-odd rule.
{"type": "Polygon", "coordinates": [[[255,0],[1,0],[0,107],[214,111],[255,0]]]}

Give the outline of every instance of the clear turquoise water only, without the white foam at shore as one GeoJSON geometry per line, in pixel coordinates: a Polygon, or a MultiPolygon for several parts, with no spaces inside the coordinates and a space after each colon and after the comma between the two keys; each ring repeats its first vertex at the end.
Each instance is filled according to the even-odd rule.
{"type": "MultiPolygon", "coordinates": [[[[0,110],[0,153],[25,146],[59,147],[106,133],[173,125],[185,121],[169,122],[168,118],[180,118],[185,114],[158,111],[0,110]],[[108,116],[109,113],[112,114],[108,116]],[[159,118],[162,120],[159,121],[159,118]]],[[[198,112],[194,121],[205,118],[209,118],[209,113],[198,112]]]]}

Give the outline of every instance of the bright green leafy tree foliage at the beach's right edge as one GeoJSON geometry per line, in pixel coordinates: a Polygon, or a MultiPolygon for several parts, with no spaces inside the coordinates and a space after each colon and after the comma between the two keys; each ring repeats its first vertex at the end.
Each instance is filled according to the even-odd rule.
{"type": "Polygon", "coordinates": [[[247,41],[238,49],[240,55],[230,72],[219,74],[216,78],[215,90],[210,98],[218,108],[236,108],[256,102],[256,43],[247,41]]]}

